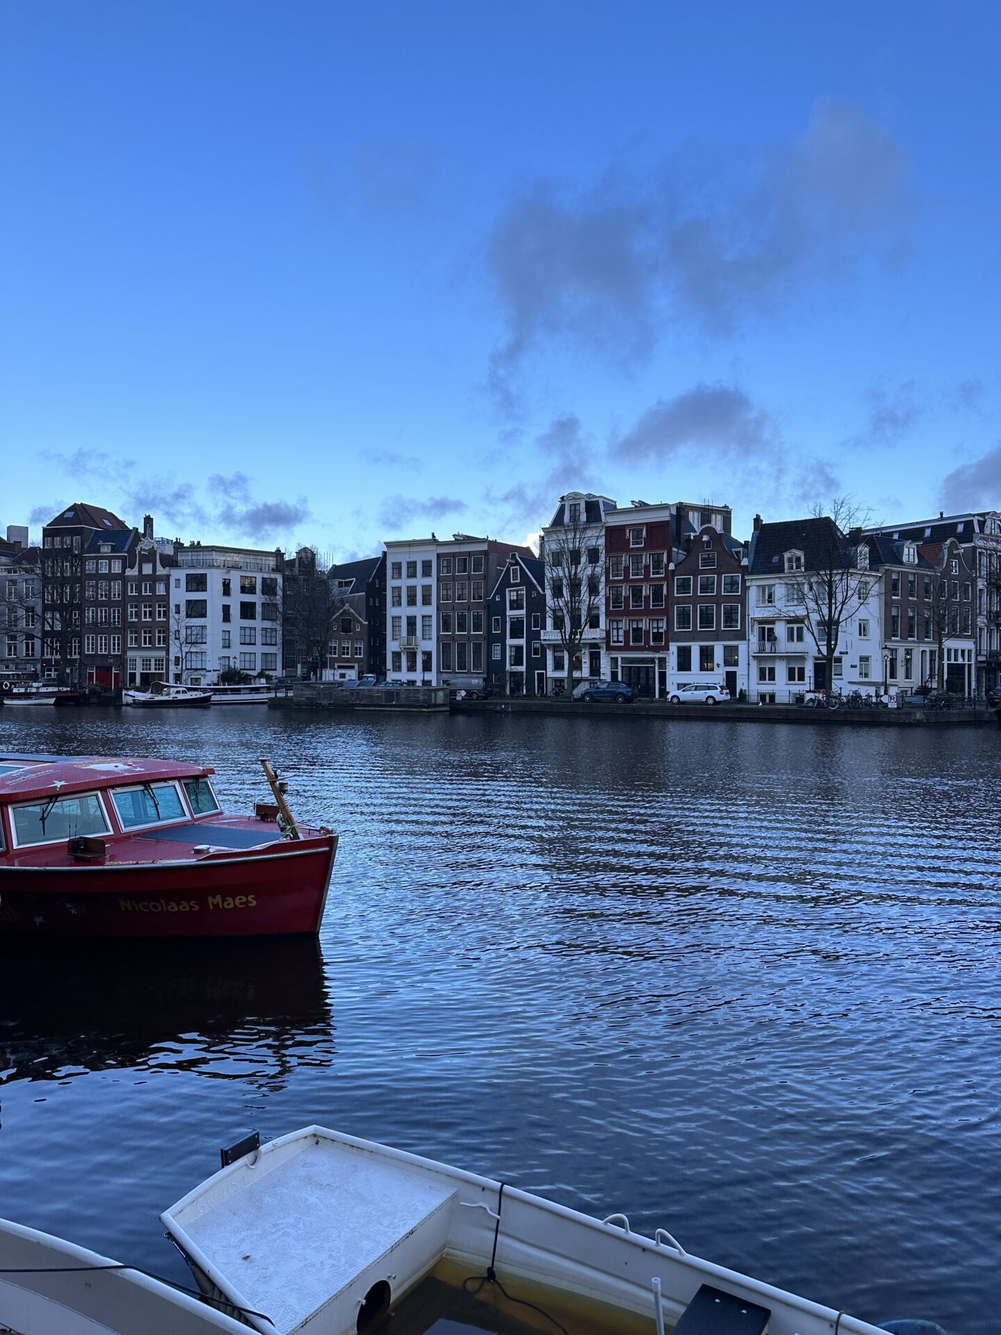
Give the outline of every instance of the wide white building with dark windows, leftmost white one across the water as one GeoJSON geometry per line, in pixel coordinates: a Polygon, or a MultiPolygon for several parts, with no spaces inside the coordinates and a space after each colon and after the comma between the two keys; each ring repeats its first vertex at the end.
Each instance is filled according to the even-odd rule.
{"type": "Polygon", "coordinates": [[[280,670],[279,557],[198,542],[178,547],[168,633],[172,681],[203,686],[228,669],[250,677],[280,670]]]}

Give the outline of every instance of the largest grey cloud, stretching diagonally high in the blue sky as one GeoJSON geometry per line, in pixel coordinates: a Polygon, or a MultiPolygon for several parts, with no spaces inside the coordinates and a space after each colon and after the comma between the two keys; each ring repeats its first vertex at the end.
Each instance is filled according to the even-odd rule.
{"type": "Polygon", "coordinates": [[[823,100],[795,140],[731,162],[697,146],[633,179],[533,183],[484,248],[505,323],[487,378],[496,409],[517,419],[515,374],[545,344],[629,368],[665,330],[726,334],[844,276],[908,222],[908,172],[858,107],[823,100]]]}

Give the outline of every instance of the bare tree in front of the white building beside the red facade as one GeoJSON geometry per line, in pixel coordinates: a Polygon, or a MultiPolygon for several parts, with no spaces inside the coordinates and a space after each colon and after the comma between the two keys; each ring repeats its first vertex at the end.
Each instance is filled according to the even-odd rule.
{"type": "MultiPolygon", "coordinates": [[[[546,533],[546,615],[566,654],[567,694],[583,670],[586,633],[601,626],[602,526],[581,517],[546,533]]],[[[573,515],[573,511],[571,511],[573,515]]]]}

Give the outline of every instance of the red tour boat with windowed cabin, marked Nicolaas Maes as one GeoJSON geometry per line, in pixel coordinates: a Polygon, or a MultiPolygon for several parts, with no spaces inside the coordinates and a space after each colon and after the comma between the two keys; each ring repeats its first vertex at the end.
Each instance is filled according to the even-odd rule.
{"type": "Polygon", "coordinates": [[[294,936],[323,917],[338,836],[275,801],[227,816],[204,765],[0,756],[0,936],[294,936]]]}

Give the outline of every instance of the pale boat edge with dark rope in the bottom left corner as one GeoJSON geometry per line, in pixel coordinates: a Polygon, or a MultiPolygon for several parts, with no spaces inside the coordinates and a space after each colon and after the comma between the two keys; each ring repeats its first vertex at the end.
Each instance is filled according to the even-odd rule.
{"type": "Polygon", "coordinates": [[[0,1330],[16,1335],[247,1335],[198,1296],[0,1219],[0,1330]]]}

